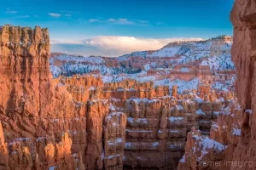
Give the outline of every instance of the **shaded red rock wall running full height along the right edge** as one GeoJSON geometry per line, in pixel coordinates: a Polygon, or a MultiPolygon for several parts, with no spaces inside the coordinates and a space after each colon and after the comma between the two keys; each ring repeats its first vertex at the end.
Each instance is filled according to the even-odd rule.
{"type": "Polygon", "coordinates": [[[236,0],[230,20],[234,26],[232,59],[237,71],[236,90],[241,107],[245,111],[241,140],[233,160],[253,161],[255,166],[256,157],[253,153],[256,151],[256,1],[236,0]]]}

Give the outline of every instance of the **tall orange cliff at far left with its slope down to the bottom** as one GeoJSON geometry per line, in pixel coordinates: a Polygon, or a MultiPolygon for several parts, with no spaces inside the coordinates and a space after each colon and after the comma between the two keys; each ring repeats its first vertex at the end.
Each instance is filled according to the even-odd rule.
{"type": "Polygon", "coordinates": [[[80,115],[72,96],[51,79],[48,30],[1,27],[0,75],[0,118],[9,143],[9,156],[1,159],[9,160],[7,168],[44,169],[64,159],[76,167],[72,142],[62,133],[85,122],[73,122],[80,115]],[[56,118],[68,123],[56,124],[56,118]]]}

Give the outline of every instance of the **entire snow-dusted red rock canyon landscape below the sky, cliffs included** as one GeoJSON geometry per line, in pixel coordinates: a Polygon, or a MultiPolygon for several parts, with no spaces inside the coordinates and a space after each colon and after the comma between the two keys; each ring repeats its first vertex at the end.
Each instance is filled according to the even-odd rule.
{"type": "Polygon", "coordinates": [[[234,40],[172,42],[118,58],[49,54],[47,29],[1,26],[0,169],[236,169],[201,162],[255,161],[256,11],[241,2],[231,13],[234,40]]]}

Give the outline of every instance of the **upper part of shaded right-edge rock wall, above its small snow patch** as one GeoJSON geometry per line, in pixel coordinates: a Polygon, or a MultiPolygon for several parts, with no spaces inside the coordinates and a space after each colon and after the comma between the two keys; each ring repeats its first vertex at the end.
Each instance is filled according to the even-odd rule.
{"type": "Polygon", "coordinates": [[[234,43],[231,51],[236,65],[238,99],[244,109],[252,108],[255,82],[256,56],[256,2],[236,0],[230,15],[234,26],[234,43]]]}

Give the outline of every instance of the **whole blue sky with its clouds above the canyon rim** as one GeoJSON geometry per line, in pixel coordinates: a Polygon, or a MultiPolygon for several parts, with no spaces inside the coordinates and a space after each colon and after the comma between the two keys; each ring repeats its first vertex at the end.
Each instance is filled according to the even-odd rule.
{"type": "MultiPolygon", "coordinates": [[[[96,50],[103,50],[99,53],[118,55],[140,50],[131,48],[134,41],[140,44],[149,40],[154,49],[177,37],[231,35],[233,3],[234,0],[12,0],[1,2],[0,25],[48,27],[52,51],[96,54],[96,50]],[[126,40],[130,50],[127,52],[120,49],[125,44],[119,47],[126,40]],[[117,48],[119,52],[115,53],[117,48]]],[[[142,46],[141,50],[149,48],[142,46]]]]}

